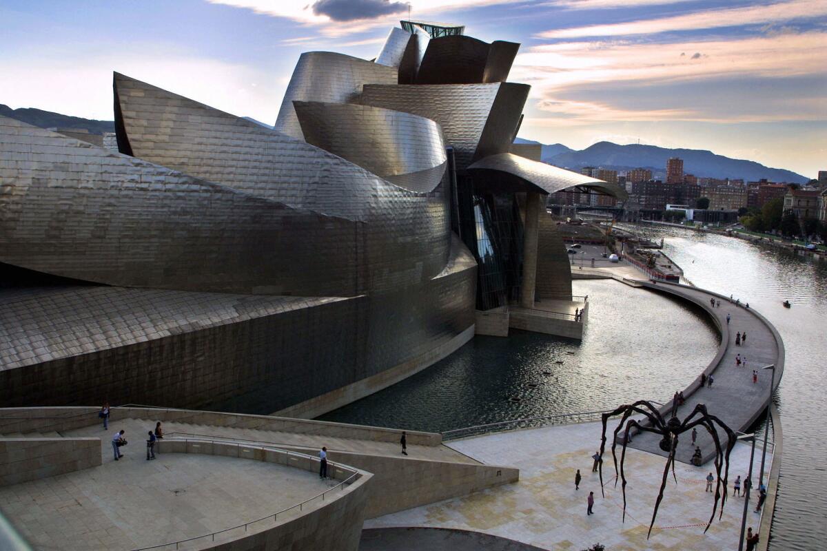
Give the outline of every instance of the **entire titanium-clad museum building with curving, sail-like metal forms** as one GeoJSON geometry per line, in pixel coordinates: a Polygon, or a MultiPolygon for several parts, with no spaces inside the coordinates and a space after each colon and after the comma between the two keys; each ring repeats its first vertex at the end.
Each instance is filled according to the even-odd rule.
{"type": "Polygon", "coordinates": [[[117,73],[117,153],[0,116],[0,402],[318,416],[571,295],[541,197],[624,190],[511,151],[519,45],[406,23],[275,130],[117,73]]]}

